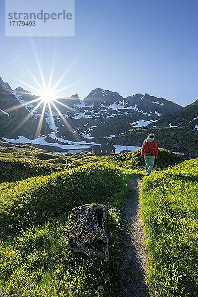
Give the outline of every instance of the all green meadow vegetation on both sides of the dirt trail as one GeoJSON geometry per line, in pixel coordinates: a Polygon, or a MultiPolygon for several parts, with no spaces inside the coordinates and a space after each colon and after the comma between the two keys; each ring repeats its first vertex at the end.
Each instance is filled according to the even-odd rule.
{"type": "MultiPolygon", "coordinates": [[[[144,175],[140,151],[61,156],[27,146],[0,152],[0,166],[0,296],[116,296],[120,211],[129,179],[144,175]],[[68,246],[70,210],[86,203],[108,208],[109,258],[76,254],[68,246]]],[[[198,160],[183,162],[160,149],[155,171],[144,178],[152,297],[196,296],[197,168],[198,160]]]]}

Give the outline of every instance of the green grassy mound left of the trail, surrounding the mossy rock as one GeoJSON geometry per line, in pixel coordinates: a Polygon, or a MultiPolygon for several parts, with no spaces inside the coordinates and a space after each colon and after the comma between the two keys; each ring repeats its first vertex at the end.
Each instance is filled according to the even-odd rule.
{"type": "Polygon", "coordinates": [[[119,219],[129,174],[113,165],[84,167],[0,186],[0,292],[20,297],[115,296],[119,219]],[[68,247],[69,210],[108,207],[110,257],[74,254],[68,247]]]}

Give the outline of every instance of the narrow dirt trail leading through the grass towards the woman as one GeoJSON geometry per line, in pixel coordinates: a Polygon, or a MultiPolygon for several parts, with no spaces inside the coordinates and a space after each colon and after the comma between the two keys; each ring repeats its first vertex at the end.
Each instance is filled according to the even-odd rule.
{"type": "Polygon", "coordinates": [[[123,205],[124,245],[120,255],[119,297],[146,297],[145,269],[147,254],[140,217],[139,189],[142,180],[134,178],[130,182],[131,194],[123,205]]]}

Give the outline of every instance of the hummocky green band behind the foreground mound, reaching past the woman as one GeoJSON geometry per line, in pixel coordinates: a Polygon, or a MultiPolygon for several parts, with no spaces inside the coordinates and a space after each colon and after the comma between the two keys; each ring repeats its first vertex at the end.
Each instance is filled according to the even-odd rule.
{"type": "MultiPolygon", "coordinates": [[[[10,148],[9,148],[10,149],[10,148]]],[[[0,183],[15,182],[30,177],[48,175],[57,171],[77,168],[89,162],[108,162],[133,170],[144,170],[145,161],[140,159],[140,149],[116,154],[114,156],[93,156],[86,152],[78,152],[72,156],[59,156],[40,150],[10,149],[0,152],[0,183]]],[[[183,158],[167,149],[159,149],[159,159],[154,169],[172,167],[183,161],[183,158]]]]}

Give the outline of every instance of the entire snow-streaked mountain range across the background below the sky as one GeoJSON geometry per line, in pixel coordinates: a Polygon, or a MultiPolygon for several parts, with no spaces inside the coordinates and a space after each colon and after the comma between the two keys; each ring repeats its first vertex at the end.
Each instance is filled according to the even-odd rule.
{"type": "Polygon", "coordinates": [[[20,141],[26,138],[26,142],[39,142],[42,146],[53,146],[55,150],[68,149],[61,146],[87,146],[113,141],[137,128],[176,125],[175,115],[181,114],[184,120],[187,108],[148,94],[124,98],[119,93],[100,88],[84,100],[77,94],[56,99],[53,101],[55,107],[47,104],[45,111],[43,104],[38,106],[39,102],[30,92],[22,88],[12,90],[0,79],[0,137],[6,140],[21,137],[20,141]],[[42,115],[43,124],[39,130],[42,115]]]}

